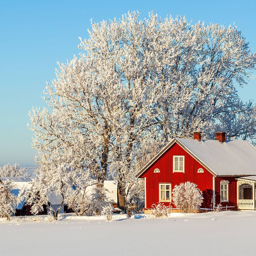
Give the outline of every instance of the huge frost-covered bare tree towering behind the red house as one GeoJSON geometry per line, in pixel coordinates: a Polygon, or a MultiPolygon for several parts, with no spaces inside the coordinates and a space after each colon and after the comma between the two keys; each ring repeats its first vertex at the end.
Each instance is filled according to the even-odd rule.
{"type": "Polygon", "coordinates": [[[255,106],[242,102],[236,90],[256,63],[241,31],[139,15],[92,22],[79,58],[59,63],[47,85],[51,110],[31,113],[38,163],[44,156],[55,159],[56,146],[72,148],[100,186],[108,175],[116,179],[124,208],[138,150],[148,141],[161,146],[195,130],[205,138],[217,129],[228,138],[256,134],[255,106]]]}

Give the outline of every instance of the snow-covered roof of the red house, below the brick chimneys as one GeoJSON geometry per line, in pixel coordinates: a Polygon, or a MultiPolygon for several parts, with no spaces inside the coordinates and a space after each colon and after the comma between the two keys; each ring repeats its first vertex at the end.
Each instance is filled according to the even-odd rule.
{"type": "Polygon", "coordinates": [[[175,142],[216,176],[256,175],[256,148],[248,141],[221,143],[218,140],[175,138],[140,170],[137,177],[148,170],[175,142]]]}

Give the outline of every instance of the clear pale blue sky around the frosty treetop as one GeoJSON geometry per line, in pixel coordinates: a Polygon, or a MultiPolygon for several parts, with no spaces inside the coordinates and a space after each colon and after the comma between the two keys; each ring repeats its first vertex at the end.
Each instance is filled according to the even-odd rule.
{"type": "MultiPolygon", "coordinates": [[[[90,19],[99,22],[139,10],[141,19],[182,15],[192,22],[233,24],[256,52],[256,1],[1,1],[0,2],[0,165],[35,165],[28,112],[46,106],[45,83],[55,77],[56,61],[78,54],[78,37],[87,38],[90,19]]],[[[256,101],[256,81],[239,89],[256,101]]]]}

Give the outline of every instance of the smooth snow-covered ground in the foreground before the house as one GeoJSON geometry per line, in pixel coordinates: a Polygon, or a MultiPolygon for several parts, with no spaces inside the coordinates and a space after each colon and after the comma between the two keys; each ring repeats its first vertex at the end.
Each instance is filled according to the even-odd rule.
{"type": "Polygon", "coordinates": [[[256,255],[256,211],[0,221],[0,255],[256,255]],[[146,217],[146,218],[144,218],[146,217]]]}

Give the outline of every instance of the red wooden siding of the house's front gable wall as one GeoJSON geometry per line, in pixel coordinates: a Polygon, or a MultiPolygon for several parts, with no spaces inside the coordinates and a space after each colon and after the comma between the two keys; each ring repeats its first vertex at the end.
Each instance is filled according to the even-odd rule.
{"type": "MultiPolygon", "coordinates": [[[[147,208],[159,202],[159,183],[171,183],[172,189],[175,185],[190,181],[198,185],[203,191],[204,204],[202,207],[211,207],[212,204],[212,174],[202,164],[198,163],[183,148],[175,143],[156,163],[154,163],[141,177],[146,177],[146,198],[147,208]],[[173,173],[173,156],[185,157],[184,173],[173,173]],[[160,173],[154,173],[159,168],[160,173]],[[197,173],[202,168],[204,173],[197,173]]],[[[217,182],[216,182],[217,183],[217,182]]],[[[164,203],[168,205],[169,203],[164,203]]],[[[175,205],[173,205],[175,206],[175,205]]]]}

